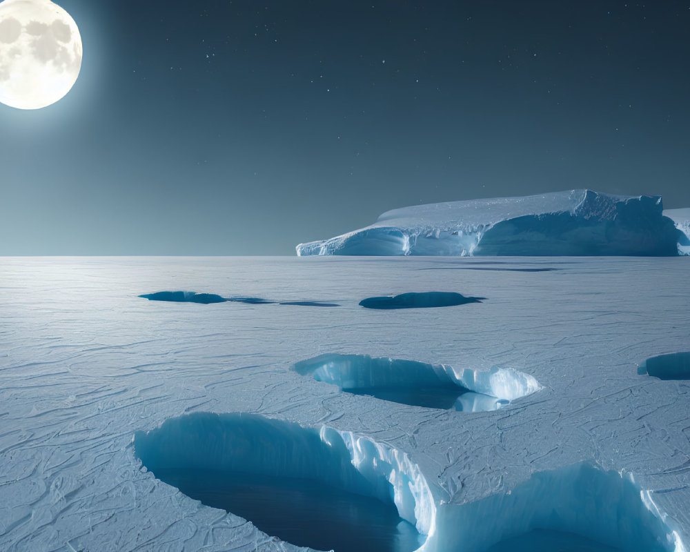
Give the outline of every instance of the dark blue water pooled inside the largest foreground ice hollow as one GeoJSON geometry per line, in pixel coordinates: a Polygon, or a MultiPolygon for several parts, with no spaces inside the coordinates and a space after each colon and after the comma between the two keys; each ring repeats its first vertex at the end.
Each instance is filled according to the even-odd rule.
{"type": "Polygon", "coordinates": [[[159,469],[160,480],[250,520],[297,546],[335,552],[412,552],[424,538],[393,504],[314,480],[254,473],[159,469]]]}

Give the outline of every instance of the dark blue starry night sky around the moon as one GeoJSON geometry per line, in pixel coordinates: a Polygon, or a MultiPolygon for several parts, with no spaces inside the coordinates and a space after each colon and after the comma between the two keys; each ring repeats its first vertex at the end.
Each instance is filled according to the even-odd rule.
{"type": "Polygon", "coordinates": [[[690,1],[57,3],[81,75],[0,105],[0,255],[294,255],[585,187],[690,206],[690,1]]]}

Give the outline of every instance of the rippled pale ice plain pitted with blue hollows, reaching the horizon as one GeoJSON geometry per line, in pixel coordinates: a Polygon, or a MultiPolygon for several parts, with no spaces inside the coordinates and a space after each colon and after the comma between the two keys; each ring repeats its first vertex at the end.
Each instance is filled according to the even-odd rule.
{"type": "Polygon", "coordinates": [[[0,550],[685,552],[689,263],[3,258],[0,550]]]}

